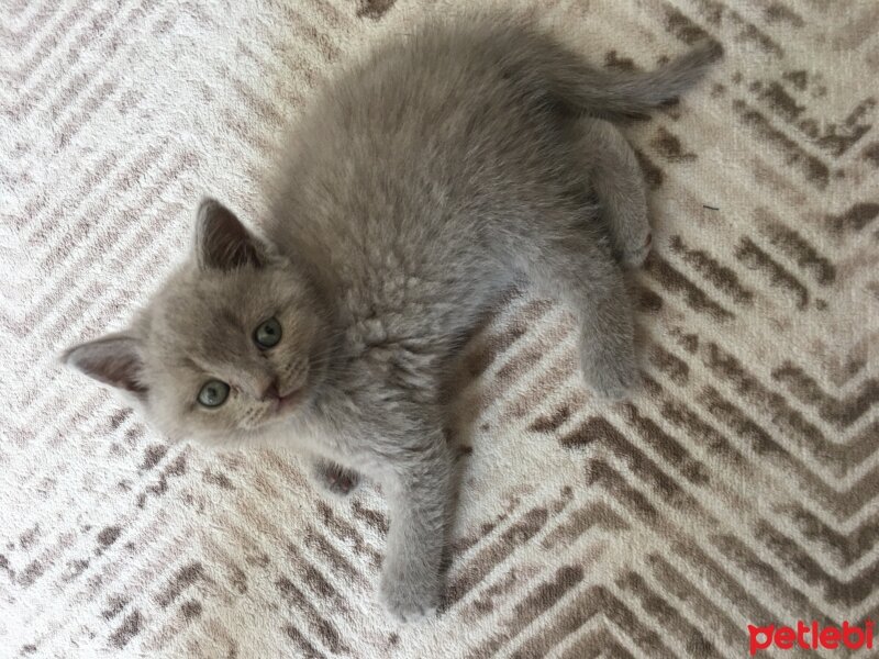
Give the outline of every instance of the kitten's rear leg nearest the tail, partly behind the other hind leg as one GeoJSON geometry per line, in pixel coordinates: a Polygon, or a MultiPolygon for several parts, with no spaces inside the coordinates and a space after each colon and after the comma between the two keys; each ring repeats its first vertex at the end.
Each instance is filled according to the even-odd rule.
{"type": "Polygon", "coordinates": [[[637,268],[647,258],[653,241],[644,176],[635,152],[610,122],[582,118],[577,123],[614,256],[625,267],[637,268]]]}

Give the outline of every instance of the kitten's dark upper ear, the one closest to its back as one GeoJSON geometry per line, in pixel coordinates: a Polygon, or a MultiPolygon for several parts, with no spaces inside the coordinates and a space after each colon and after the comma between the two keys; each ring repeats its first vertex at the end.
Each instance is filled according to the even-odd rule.
{"type": "Polygon", "coordinates": [[[215,199],[202,199],[196,215],[196,260],[202,270],[234,270],[242,266],[262,268],[265,245],[235,213],[215,199]]]}

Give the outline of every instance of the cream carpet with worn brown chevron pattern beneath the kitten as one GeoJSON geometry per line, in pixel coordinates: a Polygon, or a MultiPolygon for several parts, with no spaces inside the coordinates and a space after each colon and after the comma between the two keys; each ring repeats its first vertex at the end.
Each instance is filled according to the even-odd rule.
{"type": "Polygon", "coordinates": [[[748,624],[879,616],[874,0],[523,2],[599,65],[726,54],[628,130],[658,238],[643,393],[593,405],[526,294],[469,345],[435,622],[374,600],[374,491],[168,446],[57,367],[181,257],[201,194],[258,219],[286,119],[427,4],[2,3],[0,656],[742,657],[748,624]]]}

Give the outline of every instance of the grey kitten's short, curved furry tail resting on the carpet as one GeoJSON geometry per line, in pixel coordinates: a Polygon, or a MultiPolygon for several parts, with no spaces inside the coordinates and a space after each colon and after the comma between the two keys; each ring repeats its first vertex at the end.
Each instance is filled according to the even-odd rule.
{"type": "Polygon", "coordinates": [[[569,110],[604,119],[644,115],[675,100],[723,55],[717,42],[705,41],[660,68],[634,72],[591,68],[557,44],[536,45],[531,64],[542,80],[534,82],[569,110]]]}

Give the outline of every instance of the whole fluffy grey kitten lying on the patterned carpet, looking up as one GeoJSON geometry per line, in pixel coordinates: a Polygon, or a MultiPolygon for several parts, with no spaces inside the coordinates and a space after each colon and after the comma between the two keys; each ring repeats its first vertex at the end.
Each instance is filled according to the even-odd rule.
{"type": "Polygon", "coordinates": [[[607,120],[672,100],[717,56],[706,44],[653,72],[598,70],[512,19],[430,22],[312,104],[264,237],[202,201],[188,263],[125,332],[65,359],[173,438],[280,440],[337,492],[379,482],[381,599],[400,619],[429,615],[455,353],[525,277],[576,313],[599,395],[635,383],[621,264],[644,260],[650,231],[637,160],[607,120]]]}

